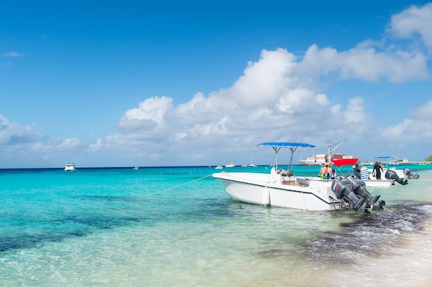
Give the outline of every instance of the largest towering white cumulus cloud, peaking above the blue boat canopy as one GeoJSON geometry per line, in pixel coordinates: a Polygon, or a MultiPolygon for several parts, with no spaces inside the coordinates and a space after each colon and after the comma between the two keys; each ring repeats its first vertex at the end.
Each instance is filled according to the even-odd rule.
{"type": "Polygon", "coordinates": [[[144,142],[146,147],[181,147],[191,142],[202,147],[229,142],[239,147],[245,139],[255,145],[263,135],[266,140],[310,138],[311,133],[326,137],[328,114],[345,119],[338,123],[341,128],[366,117],[361,98],[331,105],[309,78],[299,76],[297,65],[299,60],[288,50],[263,50],[232,87],[208,96],[198,92],[177,107],[172,98],[148,98],[126,111],[115,135],[98,140],[90,149],[128,146],[139,153],[134,146],[142,147],[144,142]]]}

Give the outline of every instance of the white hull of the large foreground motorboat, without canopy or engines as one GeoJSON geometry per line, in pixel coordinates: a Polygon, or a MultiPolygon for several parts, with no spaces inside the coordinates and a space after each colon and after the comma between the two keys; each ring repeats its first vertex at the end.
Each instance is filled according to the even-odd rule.
{"type": "Polygon", "coordinates": [[[219,180],[230,198],[240,202],[308,211],[340,209],[327,181],[295,178],[280,182],[268,173],[213,173],[213,178],[219,180]]]}

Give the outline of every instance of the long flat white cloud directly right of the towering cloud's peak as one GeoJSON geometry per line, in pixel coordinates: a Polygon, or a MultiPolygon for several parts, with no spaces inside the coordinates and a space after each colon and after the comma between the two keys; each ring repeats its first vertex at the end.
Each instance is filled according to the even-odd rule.
{"type": "Polygon", "coordinates": [[[346,52],[333,48],[320,50],[317,45],[311,45],[296,69],[303,76],[322,81],[328,78],[332,81],[351,78],[377,81],[386,77],[394,83],[402,83],[429,75],[426,56],[418,52],[378,52],[374,45],[366,41],[346,52]]]}

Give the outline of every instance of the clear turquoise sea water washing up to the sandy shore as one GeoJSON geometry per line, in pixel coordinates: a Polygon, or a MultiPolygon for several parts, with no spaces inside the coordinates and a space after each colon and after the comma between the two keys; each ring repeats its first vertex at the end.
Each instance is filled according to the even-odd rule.
{"type": "Polygon", "coordinates": [[[214,167],[3,169],[0,286],[417,286],[432,165],[409,168],[420,179],[368,189],[387,204],[369,215],[235,202],[214,167]]]}

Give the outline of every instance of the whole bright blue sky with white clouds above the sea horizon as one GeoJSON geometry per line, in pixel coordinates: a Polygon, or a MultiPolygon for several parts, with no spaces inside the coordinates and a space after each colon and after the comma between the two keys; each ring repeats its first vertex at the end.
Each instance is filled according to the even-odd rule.
{"type": "Polygon", "coordinates": [[[2,2],[0,168],[432,155],[428,1],[2,2]]]}

